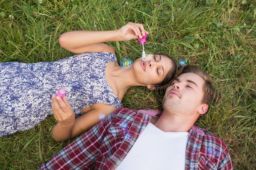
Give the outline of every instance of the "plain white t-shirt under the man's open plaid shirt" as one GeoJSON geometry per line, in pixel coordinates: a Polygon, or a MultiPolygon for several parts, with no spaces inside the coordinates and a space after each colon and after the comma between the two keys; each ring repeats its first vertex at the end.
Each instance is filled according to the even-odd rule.
{"type": "Polygon", "coordinates": [[[185,169],[188,132],[164,132],[149,123],[117,170],[185,169]]]}

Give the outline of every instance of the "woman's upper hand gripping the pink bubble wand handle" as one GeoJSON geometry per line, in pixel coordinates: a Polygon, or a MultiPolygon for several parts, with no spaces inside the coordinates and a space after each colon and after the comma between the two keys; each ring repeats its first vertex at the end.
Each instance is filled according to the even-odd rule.
{"type": "Polygon", "coordinates": [[[126,25],[118,29],[118,31],[119,31],[120,37],[122,37],[125,41],[131,40],[131,39],[137,39],[138,36],[142,38],[145,36],[145,33],[148,34],[148,32],[145,31],[142,24],[137,24],[132,22],[128,22],[126,25]]]}

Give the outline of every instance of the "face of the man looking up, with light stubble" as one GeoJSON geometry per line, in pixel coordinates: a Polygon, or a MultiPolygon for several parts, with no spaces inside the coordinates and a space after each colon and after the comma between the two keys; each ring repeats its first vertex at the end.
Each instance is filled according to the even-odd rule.
{"type": "Polygon", "coordinates": [[[208,105],[206,111],[202,111],[202,106],[205,106],[205,103],[202,103],[203,85],[202,77],[194,73],[181,74],[172,81],[171,86],[166,90],[163,99],[164,111],[182,117],[204,114],[208,105]]]}

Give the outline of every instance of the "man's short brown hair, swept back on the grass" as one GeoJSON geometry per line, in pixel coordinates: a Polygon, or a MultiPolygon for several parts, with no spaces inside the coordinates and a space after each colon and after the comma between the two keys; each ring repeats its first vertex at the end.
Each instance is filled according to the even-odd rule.
{"type": "Polygon", "coordinates": [[[184,74],[184,73],[194,73],[204,79],[205,81],[203,85],[204,97],[203,97],[202,103],[206,103],[210,105],[212,102],[214,103],[216,101],[215,89],[213,88],[212,81],[209,75],[204,70],[202,70],[200,67],[195,65],[186,65],[183,68],[181,74],[184,74]]]}

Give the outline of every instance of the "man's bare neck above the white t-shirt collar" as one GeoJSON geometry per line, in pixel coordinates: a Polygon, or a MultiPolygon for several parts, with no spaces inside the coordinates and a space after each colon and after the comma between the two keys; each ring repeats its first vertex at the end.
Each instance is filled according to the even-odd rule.
{"type": "Polygon", "coordinates": [[[158,129],[164,132],[188,132],[195,124],[197,117],[181,117],[168,114],[163,111],[161,116],[152,122],[158,129]]]}

